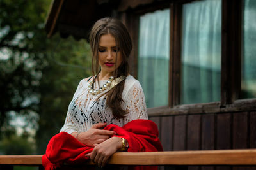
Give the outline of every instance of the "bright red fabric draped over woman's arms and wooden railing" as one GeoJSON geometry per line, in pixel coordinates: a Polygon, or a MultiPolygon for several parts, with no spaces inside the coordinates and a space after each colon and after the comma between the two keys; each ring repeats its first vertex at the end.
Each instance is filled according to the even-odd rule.
{"type": "MultiPolygon", "coordinates": [[[[118,137],[127,139],[128,152],[155,152],[163,151],[158,138],[157,125],[151,120],[132,120],[123,127],[110,124],[104,129],[115,131],[118,137]]],[[[83,164],[90,159],[86,153],[92,152],[93,148],[77,141],[72,135],[61,132],[49,141],[46,153],[42,157],[42,164],[46,170],[60,167],[64,162],[67,164],[83,164]]],[[[135,169],[143,169],[145,166],[137,166],[135,169]]],[[[149,166],[150,169],[155,169],[149,166]]],[[[148,169],[148,167],[147,167],[148,169]]]]}

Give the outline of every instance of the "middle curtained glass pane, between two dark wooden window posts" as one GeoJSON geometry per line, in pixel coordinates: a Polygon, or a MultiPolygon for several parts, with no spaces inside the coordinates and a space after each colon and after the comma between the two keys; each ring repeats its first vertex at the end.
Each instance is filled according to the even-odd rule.
{"type": "Polygon", "coordinates": [[[220,101],[221,0],[183,5],[181,104],[220,101]]]}

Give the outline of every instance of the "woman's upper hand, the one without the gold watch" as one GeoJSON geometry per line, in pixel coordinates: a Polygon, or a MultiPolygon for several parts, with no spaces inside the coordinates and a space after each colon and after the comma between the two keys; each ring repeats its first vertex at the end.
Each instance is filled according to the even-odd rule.
{"type": "Polygon", "coordinates": [[[76,136],[77,140],[84,143],[84,145],[94,147],[109,139],[113,134],[116,134],[115,131],[102,130],[106,125],[107,123],[95,124],[87,132],[79,134],[74,132],[72,135],[76,136]]]}

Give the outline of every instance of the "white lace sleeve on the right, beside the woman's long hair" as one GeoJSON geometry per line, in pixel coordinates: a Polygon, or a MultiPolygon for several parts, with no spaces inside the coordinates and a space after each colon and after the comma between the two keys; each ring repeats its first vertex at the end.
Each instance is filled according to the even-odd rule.
{"type": "Polygon", "coordinates": [[[145,96],[139,81],[136,81],[131,88],[129,88],[123,99],[125,110],[129,111],[124,118],[124,124],[127,124],[131,120],[148,119],[145,96]]]}

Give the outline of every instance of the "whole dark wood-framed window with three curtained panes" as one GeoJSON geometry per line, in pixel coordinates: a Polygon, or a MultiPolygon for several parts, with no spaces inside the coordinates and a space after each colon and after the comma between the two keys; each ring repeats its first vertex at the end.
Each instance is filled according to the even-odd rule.
{"type": "Polygon", "coordinates": [[[177,0],[143,9],[132,29],[150,114],[255,107],[256,1],[177,0]]]}

